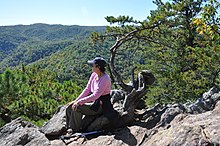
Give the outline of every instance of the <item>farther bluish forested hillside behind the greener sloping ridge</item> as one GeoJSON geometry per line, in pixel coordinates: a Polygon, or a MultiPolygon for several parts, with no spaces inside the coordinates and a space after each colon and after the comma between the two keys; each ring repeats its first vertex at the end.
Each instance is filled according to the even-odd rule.
{"type": "MultiPolygon", "coordinates": [[[[0,27],[0,72],[8,67],[27,65],[70,45],[87,42],[93,31],[105,27],[63,25],[16,25],[0,27]],[[84,40],[85,39],[85,40],[84,40]]],[[[80,47],[74,47],[80,49],[80,47]]]]}

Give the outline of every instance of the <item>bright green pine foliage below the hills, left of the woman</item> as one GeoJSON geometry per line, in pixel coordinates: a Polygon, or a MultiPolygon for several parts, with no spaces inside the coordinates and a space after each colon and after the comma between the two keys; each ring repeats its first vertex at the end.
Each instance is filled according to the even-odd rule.
{"type": "Polygon", "coordinates": [[[1,111],[11,118],[23,117],[42,125],[58,106],[72,101],[82,91],[72,81],[62,84],[55,73],[37,66],[20,70],[6,70],[0,75],[1,111]]]}

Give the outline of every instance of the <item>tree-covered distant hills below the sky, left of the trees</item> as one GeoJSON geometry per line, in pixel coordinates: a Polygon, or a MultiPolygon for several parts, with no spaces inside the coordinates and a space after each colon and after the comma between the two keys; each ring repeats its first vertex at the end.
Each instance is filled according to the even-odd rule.
{"type": "MultiPolygon", "coordinates": [[[[82,70],[79,67],[83,67],[86,59],[107,54],[104,53],[105,49],[102,46],[95,46],[89,40],[92,32],[104,30],[105,26],[64,26],[41,23],[0,26],[0,72],[21,64],[35,64],[62,74],[64,72],[80,73],[82,70]],[[101,51],[96,52],[97,49],[101,51]]],[[[108,45],[105,46],[107,47],[108,45]]]]}

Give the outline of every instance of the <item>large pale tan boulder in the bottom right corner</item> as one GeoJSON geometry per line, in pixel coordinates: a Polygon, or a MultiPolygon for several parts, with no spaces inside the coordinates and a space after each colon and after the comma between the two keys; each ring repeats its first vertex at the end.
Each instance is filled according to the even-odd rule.
{"type": "Polygon", "coordinates": [[[143,145],[217,145],[220,144],[220,102],[213,111],[197,115],[179,114],[168,129],[158,129],[143,145]]]}

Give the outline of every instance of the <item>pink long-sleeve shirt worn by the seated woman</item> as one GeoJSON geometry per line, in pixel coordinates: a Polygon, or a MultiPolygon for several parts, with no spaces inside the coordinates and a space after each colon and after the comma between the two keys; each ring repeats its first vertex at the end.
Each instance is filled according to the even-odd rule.
{"type": "Polygon", "coordinates": [[[86,88],[79,95],[77,101],[80,105],[83,105],[84,103],[95,101],[102,95],[109,94],[110,90],[110,77],[105,73],[101,78],[98,78],[98,75],[93,72],[89,78],[86,88]]]}

